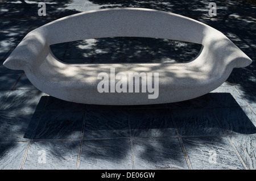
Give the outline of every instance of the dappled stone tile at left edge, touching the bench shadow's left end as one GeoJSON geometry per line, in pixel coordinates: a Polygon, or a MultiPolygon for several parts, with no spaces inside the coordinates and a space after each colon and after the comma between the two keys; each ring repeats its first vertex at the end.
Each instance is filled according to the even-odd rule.
{"type": "Polygon", "coordinates": [[[39,90],[13,90],[3,103],[3,111],[42,111],[47,96],[39,90]]]}

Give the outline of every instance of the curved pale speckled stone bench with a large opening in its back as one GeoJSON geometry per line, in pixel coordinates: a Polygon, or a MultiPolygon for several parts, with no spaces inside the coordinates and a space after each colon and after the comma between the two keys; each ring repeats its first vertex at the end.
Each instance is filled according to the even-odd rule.
{"type": "MultiPolygon", "coordinates": [[[[250,63],[250,58],[232,41],[206,24],[170,12],[123,8],[81,12],[36,28],[24,37],[3,65],[24,70],[35,87],[59,99],[88,104],[134,105],[196,98],[224,83],[233,68],[250,63]],[[57,60],[49,47],[69,41],[117,36],[187,41],[202,44],[203,48],[195,60],[182,64],[65,64],[57,60]],[[127,87],[122,87],[127,91],[120,92],[119,89],[118,92],[113,86],[118,84],[120,76],[113,77],[110,70],[122,78],[128,78],[129,73],[158,73],[159,84],[155,82],[158,90],[152,92],[148,87],[146,90],[142,88],[143,81],[150,83],[150,76],[147,79],[142,76],[139,92],[132,92],[131,85],[129,91],[128,83],[127,87]],[[106,74],[109,75],[109,87],[102,87],[109,92],[100,92],[98,86],[102,80],[98,76],[101,78],[106,74]],[[153,93],[155,97],[150,98],[153,93]]],[[[138,86],[135,80],[133,86],[138,86]]]]}

